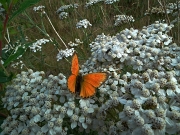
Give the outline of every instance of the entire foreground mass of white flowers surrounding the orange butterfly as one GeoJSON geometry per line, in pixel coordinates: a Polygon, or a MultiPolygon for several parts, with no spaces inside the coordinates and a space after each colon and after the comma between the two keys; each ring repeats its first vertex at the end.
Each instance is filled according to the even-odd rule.
{"type": "Polygon", "coordinates": [[[2,99],[10,115],[1,134],[180,134],[180,47],[167,35],[171,28],[155,22],[99,35],[80,72],[105,71],[109,78],[91,98],[70,93],[61,73],[17,75],[2,99]]]}

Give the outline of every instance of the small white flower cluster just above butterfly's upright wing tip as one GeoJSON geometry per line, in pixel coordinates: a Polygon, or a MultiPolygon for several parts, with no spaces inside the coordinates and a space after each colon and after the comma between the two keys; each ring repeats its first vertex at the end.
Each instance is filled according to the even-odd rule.
{"type": "Polygon", "coordinates": [[[61,60],[64,57],[69,57],[72,56],[74,53],[74,48],[71,49],[65,49],[65,50],[60,50],[59,53],[57,54],[56,58],[57,61],[61,60]]]}

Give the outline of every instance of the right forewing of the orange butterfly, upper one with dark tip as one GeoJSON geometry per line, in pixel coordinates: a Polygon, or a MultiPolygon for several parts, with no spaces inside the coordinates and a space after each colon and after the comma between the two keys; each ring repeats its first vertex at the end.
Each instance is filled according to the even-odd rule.
{"type": "Polygon", "coordinates": [[[99,87],[108,77],[107,73],[90,73],[83,76],[83,81],[91,84],[95,88],[99,87]]]}

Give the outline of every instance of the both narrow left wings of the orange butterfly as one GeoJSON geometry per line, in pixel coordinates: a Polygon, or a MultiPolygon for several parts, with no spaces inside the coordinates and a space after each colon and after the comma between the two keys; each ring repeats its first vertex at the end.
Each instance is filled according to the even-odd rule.
{"type": "Polygon", "coordinates": [[[74,54],[72,58],[71,72],[72,72],[72,75],[68,78],[68,89],[71,92],[75,93],[76,79],[79,74],[79,63],[78,63],[78,57],[76,54],[74,54]]]}

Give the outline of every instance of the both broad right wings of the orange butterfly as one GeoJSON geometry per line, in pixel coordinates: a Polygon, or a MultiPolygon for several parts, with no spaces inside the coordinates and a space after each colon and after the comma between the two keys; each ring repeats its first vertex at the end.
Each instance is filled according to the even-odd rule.
{"type": "Polygon", "coordinates": [[[93,96],[96,93],[96,88],[105,82],[107,77],[107,73],[90,73],[84,75],[81,82],[80,96],[83,98],[93,96]]]}

